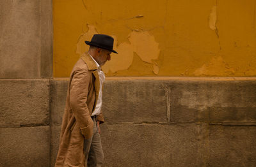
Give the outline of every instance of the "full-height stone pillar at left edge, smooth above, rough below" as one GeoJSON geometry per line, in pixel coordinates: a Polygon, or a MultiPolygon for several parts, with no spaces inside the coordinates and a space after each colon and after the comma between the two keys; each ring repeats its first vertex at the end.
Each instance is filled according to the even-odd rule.
{"type": "Polygon", "coordinates": [[[0,166],[49,166],[52,0],[1,0],[0,36],[0,166]]]}

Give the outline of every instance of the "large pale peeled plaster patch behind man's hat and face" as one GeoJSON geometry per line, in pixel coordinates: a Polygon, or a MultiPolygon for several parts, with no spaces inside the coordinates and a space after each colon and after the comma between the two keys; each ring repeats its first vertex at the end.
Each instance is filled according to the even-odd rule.
{"type": "MultiPolygon", "coordinates": [[[[93,25],[88,25],[88,31],[81,34],[79,40],[77,41],[76,53],[82,55],[88,50],[88,46],[84,44],[85,40],[92,39],[93,34],[99,33],[93,25]]],[[[148,31],[132,31],[128,35],[129,42],[120,43],[116,45],[117,38],[114,38],[113,49],[118,52],[118,54],[111,54],[111,61],[106,62],[102,66],[102,70],[105,73],[111,71],[115,73],[119,70],[128,69],[133,61],[134,52],[140,56],[141,60],[144,62],[151,63],[153,65],[152,71],[157,75],[159,73],[159,67],[152,60],[158,59],[159,48],[158,43],[155,41],[154,36],[150,35],[148,31]]]]}

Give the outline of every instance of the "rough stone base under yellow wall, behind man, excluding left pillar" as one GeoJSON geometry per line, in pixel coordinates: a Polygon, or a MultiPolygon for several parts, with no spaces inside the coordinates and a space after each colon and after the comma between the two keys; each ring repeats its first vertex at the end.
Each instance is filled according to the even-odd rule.
{"type": "MultiPolygon", "coordinates": [[[[67,85],[52,81],[52,166],[67,85]]],[[[255,78],[108,78],[104,166],[255,166],[255,87],[255,78]]]]}

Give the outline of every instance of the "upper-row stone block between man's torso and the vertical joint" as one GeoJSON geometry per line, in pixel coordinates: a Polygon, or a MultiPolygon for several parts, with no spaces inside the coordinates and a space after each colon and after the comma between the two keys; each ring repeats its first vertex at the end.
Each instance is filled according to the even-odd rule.
{"type": "Polygon", "coordinates": [[[107,80],[102,112],[106,122],[167,122],[166,92],[161,82],[107,80]]]}

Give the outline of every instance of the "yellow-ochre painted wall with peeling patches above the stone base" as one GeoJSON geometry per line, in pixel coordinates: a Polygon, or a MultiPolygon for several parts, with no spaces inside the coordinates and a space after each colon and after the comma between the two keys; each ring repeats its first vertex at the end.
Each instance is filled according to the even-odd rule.
{"type": "Polygon", "coordinates": [[[53,0],[54,76],[115,38],[107,76],[256,76],[255,0],[53,0]]]}

